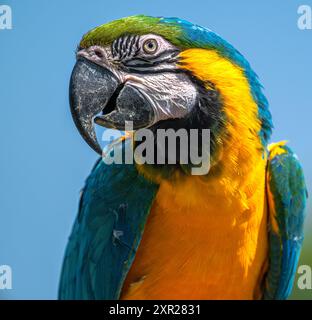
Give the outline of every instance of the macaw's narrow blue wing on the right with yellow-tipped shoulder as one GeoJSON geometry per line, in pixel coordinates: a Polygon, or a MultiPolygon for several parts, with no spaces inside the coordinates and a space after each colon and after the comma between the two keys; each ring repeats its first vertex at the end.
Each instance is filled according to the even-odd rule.
{"type": "Polygon", "coordinates": [[[267,195],[270,257],[264,299],[290,295],[303,241],[307,190],[296,155],[280,142],[269,146],[267,195]]]}

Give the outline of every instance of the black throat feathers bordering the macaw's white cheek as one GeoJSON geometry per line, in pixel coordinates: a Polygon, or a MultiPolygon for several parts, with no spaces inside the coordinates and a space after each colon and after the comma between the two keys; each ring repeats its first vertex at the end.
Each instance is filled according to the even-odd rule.
{"type": "MultiPolygon", "coordinates": [[[[219,150],[219,137],[220,135],[224,135],[225,133],[225,113],[222,109],[222,98],[217,89],[215,89],[212,83],[209,83],[209,86],[205,86],[205,83],[201,82],[197,78],[195,78],[192,74],[189,74],[192,82],[195,84],[198,92],[198,99],[196,105],[193,107],[191,112],[186,115],[184,118],[180,119],[169,119],[159,121],[154,124],[151,129],[154,133],[154,137],[156,138],[154,141],[154,163],[157,163],[157,129],[173,129],[175,132],[181,128],[186,129],[188,135],[190,136],[191,129],[199,129],[199,156],[201,156],[200,151],[202,150],[202,142],[201,141],[201,129],[210,129],[210,157],[211,163],[213,164],[213,159],[217,158],[218,150],[219,150]],[[211,89],[207,89],[207,87],[211,89]]],[[[207,84],[206,84],[207,85],[207,84]]],[[[140,143],[136,143],[138,145],[140,143]]],[[[167,146],[163,146],[166,148],[167,146]]],[[[190,147],[188,148],[190,150],[190,147]]],[[[181,169],[181,165],[179,164],[180,157],[180,146],[179,140],[177,141],[177,150],[176,150],[176,159],[177,164],[172,165],[168,164],[168,157],[165,159],[165,164],[145,164],[151,172],[155,172],[160,174],[163,178],[169,178],[171,174],[177,170],[181,169]]],[[[189,165],[183,165],[183,172],[189,173],[191,170],[191,161],[189,156],[189,165]],[[186,169],[186,170],[185,170],[186,169]]]]}

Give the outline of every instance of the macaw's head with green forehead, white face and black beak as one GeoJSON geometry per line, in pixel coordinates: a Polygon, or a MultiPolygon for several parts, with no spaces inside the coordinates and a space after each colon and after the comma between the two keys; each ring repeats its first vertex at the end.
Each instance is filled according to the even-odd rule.
{"type": "Polygon", "coordinates": [[[70,104],[79,132],[98,153],[94,123],[119,130],[127,121],[134,130],[208,128],[218,157],[225,148],[265,147],[272,129],[247,60],[216,33],[178,18],[132,16],[85,34],[70,104]]]}

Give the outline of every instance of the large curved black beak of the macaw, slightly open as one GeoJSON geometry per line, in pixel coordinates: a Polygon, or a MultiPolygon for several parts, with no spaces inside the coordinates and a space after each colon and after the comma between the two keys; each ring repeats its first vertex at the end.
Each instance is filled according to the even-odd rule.
{"type": "Polygon", "coordinates": [[[132,121],[136,130],[151,125],[155,118],[147,97],[130,84],[121,83],[107,68],[82,57],[78,58],[71,75],[69,99],[76,127],[99,154],[102,149],[94,122],[106,128],[124,130],[126,121],[132,121]]]}

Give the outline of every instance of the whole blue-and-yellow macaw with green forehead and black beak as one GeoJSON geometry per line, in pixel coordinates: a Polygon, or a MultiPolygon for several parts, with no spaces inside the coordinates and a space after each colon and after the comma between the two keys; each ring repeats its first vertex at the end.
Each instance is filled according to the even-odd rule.
{"type": "MultiPolygon", "coordinates": [[[[216,33],[178,18],[131,16],[86,33],[70,82],[75,124],[210,129],[210,170],[107,164],[86,180],[60,299],[286,299],[307,191],[250,64],[216,33]]],[[[204,142],[203,142],[204,143],[204,142]]],[[[129,148],[125,141],[121,148],[129,148]]],[[[130,144],[130,147],[131,144],[130,144]]]]}

